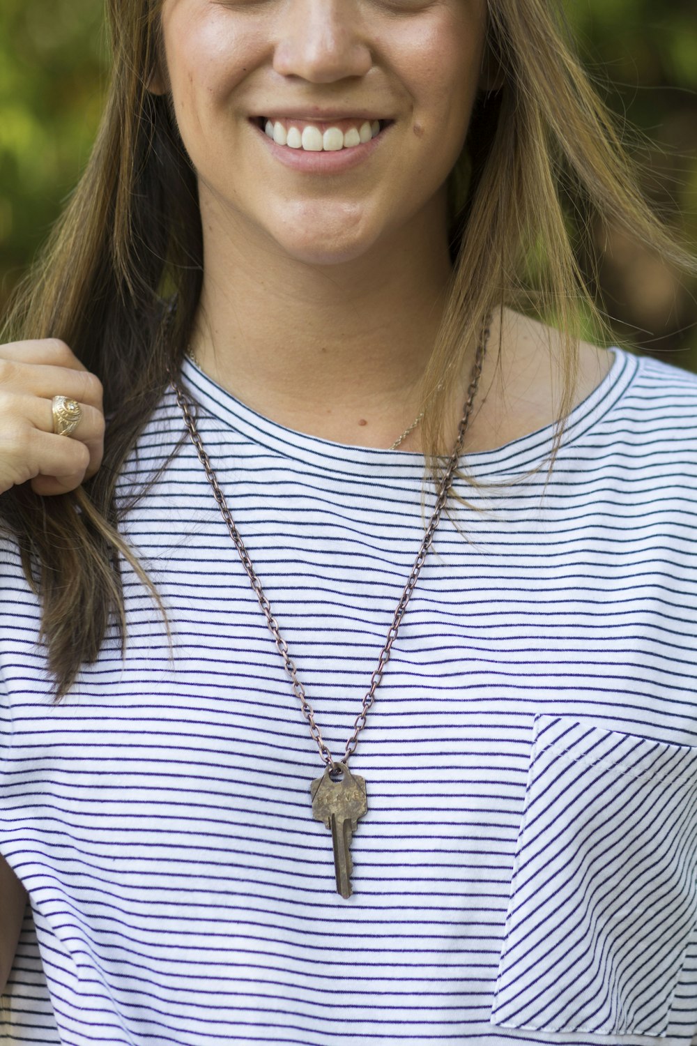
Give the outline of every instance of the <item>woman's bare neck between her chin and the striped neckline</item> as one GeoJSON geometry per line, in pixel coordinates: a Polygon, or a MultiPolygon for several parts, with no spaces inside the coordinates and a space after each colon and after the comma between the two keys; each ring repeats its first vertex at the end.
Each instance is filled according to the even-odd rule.
{"type": "Polygon", "coordinates": [[[202,217],[209,231],[191,342],[201,366],[288,428],[391,446],[418,413],[447,293],[444,221],[417,215],[391,242],[329,266],[226,228],[203,199],[202,217]]]}

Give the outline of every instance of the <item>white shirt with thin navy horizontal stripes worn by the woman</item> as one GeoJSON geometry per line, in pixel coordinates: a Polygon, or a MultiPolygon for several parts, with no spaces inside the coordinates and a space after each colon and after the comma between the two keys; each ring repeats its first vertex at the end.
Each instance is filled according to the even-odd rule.
{"type": "MultiPolygon", "coordinates": [[[[183,378],[339,758],[433,507],[423,459],[183,378]]],[[[168,392],[123,497],[182,433],[168,392]]],[[[108,638],[53,705],[4,543],[0,852],[30,904],[3,1042],[697,1046],[697,379],[614,350],[545,486],[552,438],[468,458],[483,485],[459,483],[350,763],[347,900],[190,442],[125,523],[171,657],[124,569],[125,660],[108,638]]]]}

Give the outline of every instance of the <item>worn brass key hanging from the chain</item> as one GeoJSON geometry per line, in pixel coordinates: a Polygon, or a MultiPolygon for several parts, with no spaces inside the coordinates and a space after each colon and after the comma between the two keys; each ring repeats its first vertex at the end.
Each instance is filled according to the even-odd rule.
{"type": "Polygon", "coordinates": [[[336,891],[343,897],[350,897],[353,892],[351,838],[358,818],[368,810],[366,780],[357,774],[352,774],[345,763],[335,763],[334,767],[342,772],[341,780],[333,781],[327,767],[322,776],[310,786],[312,814],[317,821],[324,821],[331,832],[336,891]]]}

